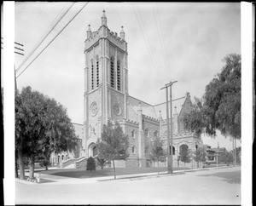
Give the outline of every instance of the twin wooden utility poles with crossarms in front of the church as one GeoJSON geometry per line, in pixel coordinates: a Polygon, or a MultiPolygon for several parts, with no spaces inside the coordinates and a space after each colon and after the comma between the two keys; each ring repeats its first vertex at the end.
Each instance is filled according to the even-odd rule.
{"type": "MultiPolygon", "coordinates": [[[[167,127],[167,173],[173,173],[173,160],[172,160],[172,84],[176,83],[170,82],[166,83],[165,87],[161,89],[166,89],[166,127],[167,127]],[[168,106],[168,87],[170,87],[170,106],[171,106],[171,129],[169,130],[169,106],[168,106]],[[170,135],[171,133],[171,135],[170,135]],[[171,140],[170,140],[171,136],[171,140]],[[170,146],[171,143],[171,146],[170,146]],[[171,155],[171,156],[170,156],[171,155]]],[[[160,90],[161,90],[160,89],[160,90]]]]}

